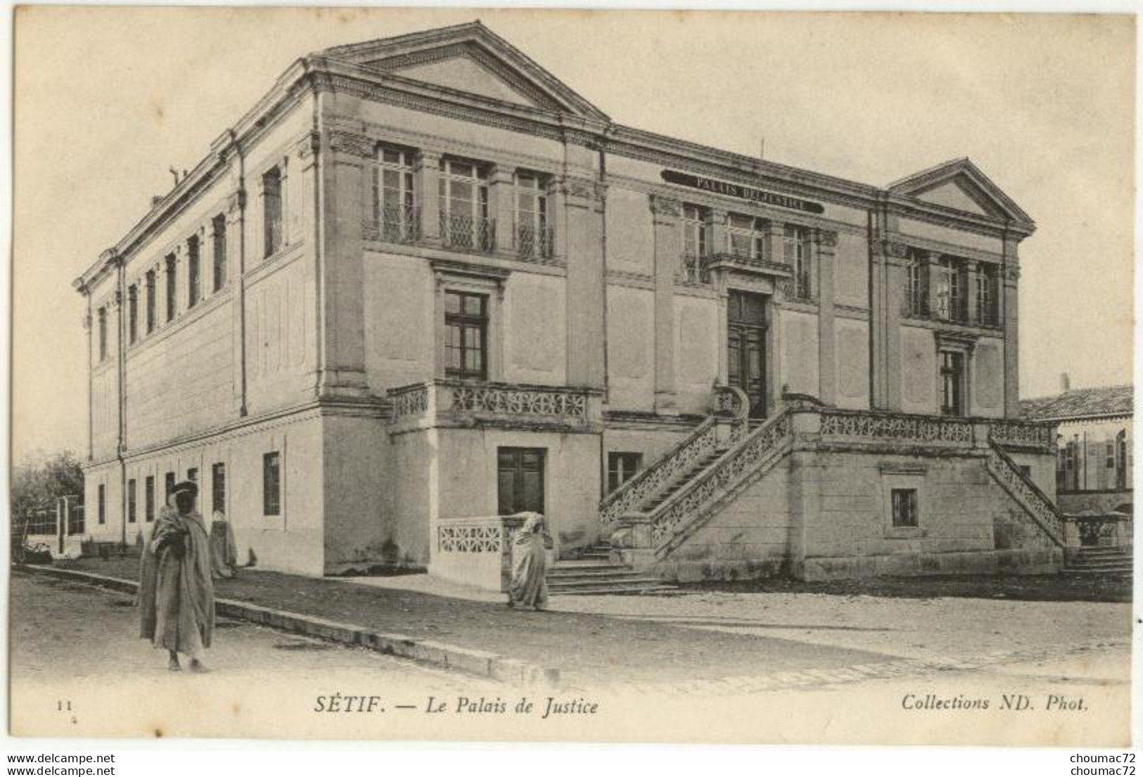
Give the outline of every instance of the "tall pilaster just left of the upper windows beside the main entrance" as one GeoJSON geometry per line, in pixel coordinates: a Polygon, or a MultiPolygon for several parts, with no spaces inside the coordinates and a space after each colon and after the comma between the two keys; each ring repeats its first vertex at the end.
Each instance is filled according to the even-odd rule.
{"type": "Polygon", "coordinates": [[[650,195],[655,230],[655,412],[678,415],[674,401],[674,275],[682,253],[676,199],[650,195]]]}

